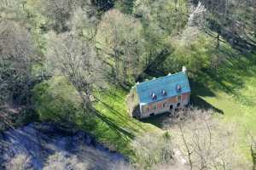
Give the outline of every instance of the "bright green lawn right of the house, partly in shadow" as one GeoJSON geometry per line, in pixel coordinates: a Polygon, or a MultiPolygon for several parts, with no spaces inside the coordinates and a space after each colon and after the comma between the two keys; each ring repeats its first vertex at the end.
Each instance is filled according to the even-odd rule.
{"type": "Polygon", "coordinates": [[[237,150],[250,158],[249,133],[256,136],[256,55],[227,55],[218,76],[201,73],[201,82],[192,83],[195,99],[211,105],[225,126],[236,125],[237,150]]]}

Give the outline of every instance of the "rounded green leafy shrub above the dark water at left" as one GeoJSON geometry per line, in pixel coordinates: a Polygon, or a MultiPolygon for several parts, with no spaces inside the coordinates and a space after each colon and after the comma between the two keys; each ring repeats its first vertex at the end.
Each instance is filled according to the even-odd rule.
{"type": "Polygon", "coordinates": [[[33,103],[42,121],[73,122],[81,112],[81,100],[64,77],[53,77],[33,89],[33,103]]]}

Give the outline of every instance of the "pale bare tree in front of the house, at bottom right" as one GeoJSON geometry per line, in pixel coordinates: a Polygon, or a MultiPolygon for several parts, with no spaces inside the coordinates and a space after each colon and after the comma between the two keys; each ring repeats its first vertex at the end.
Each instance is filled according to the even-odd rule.
{"type": "Polygon", "coordinates": [[[236,142],[234,127],[225,127],[223,130],[222,125],[212,119],[212,111],[179,111],[176,116],[166,120],[165,127],[177,132],[174,133],[177,138],[172,141],[173,148],[177,147],[187,157],[190,170],[249,167],[247,163],[236,164],[241,157],[232,154],[234,150],[230,144],[236,142]]]}

